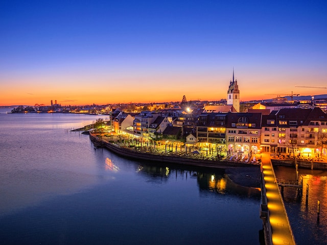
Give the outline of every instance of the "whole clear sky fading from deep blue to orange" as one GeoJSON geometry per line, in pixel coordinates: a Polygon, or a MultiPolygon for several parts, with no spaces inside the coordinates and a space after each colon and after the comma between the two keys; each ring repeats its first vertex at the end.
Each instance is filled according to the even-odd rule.
{"type": "Polygon", "coordinates": [[[327,94],[326,1],[1,1],[0,106],[327,94]]]}

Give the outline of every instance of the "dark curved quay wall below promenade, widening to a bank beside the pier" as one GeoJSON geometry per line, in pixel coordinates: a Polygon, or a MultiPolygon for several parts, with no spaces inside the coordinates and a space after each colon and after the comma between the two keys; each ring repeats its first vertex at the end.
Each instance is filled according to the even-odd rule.
{"type": "Polygon", "coordinates": [[[175,154],[165,153],[149,153],[144,151],[135,151],[133,148],[128,148],[123,145],[108,142],[103,139],[99,139],[94,134],[89,134],[91,141],[95,146],[101,146],[107,148],[109,151],[118,154],[120,156],[144,160],[155,161],[160,163],[171,163],[183,166],[196,166],[196,167],[208,167],[208,168],[220,168],[225,169],[225,173],[236,184],[247,187],[260,187],[260,165],[251,163],[242,163],[237,161],[216,161],[205,159],[194,159],[186,156],[179,156],[175,154]]]}

